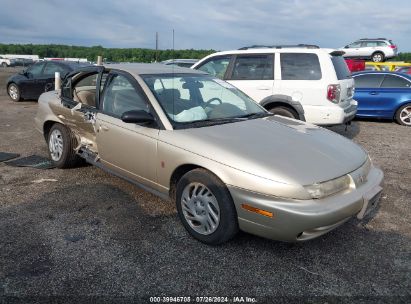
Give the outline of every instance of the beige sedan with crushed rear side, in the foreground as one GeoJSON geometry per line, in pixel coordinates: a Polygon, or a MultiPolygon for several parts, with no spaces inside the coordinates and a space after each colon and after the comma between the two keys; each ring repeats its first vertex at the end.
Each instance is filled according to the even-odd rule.
{"type": "Polygon", "coordinates": [[[363,218],[383,173],[352,141],[273,116],[232,85],[158,64],[83,68],[39,100],[59,168],[79,159],[176,202],[188,232],[313,239],[363,218]]]}

